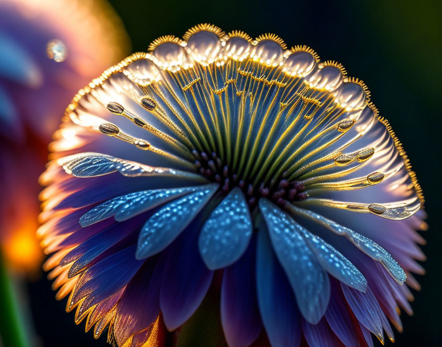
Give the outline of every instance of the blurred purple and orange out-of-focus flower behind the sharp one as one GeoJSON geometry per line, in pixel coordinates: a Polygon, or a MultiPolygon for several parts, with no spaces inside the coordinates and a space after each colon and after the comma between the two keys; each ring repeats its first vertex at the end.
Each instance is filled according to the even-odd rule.
{"type": "Polygon", "coordinates": [[[41,266],[39,204],[32,197],[60,113],[79,88],[124,56],[127,42],[104,1],[0,0],[0,177],[7,197],[0,204],[0,246],[11,268],[41,266]]]}

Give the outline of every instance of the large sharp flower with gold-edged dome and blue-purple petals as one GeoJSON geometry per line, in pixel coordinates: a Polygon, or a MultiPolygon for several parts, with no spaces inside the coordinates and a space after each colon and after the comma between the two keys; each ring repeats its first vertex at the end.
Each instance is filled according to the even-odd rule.
{"type": "Polygon", "coordinates": [[[309,47],[160,37],[74,97],[51,148],[44,268],[95,337],[179,340],[208,291],[229,347],[369,346],[411,312],[421,189],[365,84],[309,47]]]}

